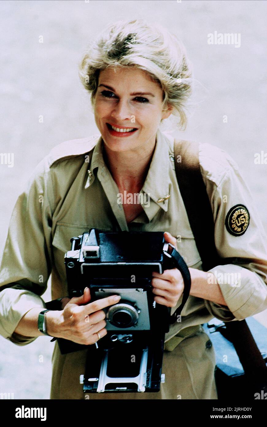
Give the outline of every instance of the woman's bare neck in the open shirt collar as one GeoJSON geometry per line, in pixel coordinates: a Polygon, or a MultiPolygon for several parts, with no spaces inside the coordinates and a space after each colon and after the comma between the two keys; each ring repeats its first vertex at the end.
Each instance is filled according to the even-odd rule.
{"type": "Polygon", "coordinates": [[[129,192],[142,189],[155,146],[155,136],[139,149],[124,152],[112,151],[103,143],[104,161],[119,189],[129,192]]]}

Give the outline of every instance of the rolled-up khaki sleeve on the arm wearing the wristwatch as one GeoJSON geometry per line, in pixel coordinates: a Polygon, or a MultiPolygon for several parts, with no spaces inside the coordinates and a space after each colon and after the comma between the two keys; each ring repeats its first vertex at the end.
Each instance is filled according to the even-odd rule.
{"type": "Polygon", "coordinates": [[[36,337],[15,333],[32,308],[44,308],[41,295],[51,273],[51,207],[46,190],[46,159],[36,167],[12,212],[0,263],[0,334],[17,345],[36,337]]]}

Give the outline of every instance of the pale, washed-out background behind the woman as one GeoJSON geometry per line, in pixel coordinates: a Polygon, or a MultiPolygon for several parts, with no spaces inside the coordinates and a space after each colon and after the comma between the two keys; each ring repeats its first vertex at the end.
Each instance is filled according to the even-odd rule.
{"type": "MultiPolygon", "coordinates": [[[[17,196],[37,163],[58,143],[98,132],[77,64],[88,36],[121,18],[159,22],[183,40],[203,87],[197,85],[195,108],[181,137],[232,155],[266,228],[267,165],[255,165],[254,154],[267,152],[267,2],[2,0],[0,11],[0,152],[15,155],[13,168],[0,164],[0,246],[17,196]],[[240,33],[241,47],[208,45],[207,34],[214,31],[240,33]]],[[[51,299],[49,289],[44,299],[51,299]]],[[[49,398],[52,347],[49,337],[25,347],[0,337],[0,392],[14,392],[18,399],[49,398]]]]}

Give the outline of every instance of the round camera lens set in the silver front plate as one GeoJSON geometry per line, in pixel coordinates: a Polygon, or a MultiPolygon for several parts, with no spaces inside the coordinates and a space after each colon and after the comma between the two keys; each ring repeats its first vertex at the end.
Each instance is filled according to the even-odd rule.
{"type": "Polygon", "coordinates": [[[130,328],[138,322],[137,310],[130,301],[120,301],[107,311],[107,319],[117,328],[130,328]]]}

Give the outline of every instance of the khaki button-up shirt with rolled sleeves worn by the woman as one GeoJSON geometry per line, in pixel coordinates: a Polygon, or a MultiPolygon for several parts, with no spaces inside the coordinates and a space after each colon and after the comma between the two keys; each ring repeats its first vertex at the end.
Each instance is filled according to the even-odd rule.
{"type": "MultiPolygon", "coordinates": [[[[178,237],[177,249],[187,266],[202,269],[176,180],[174,138],[158,130],[142,187],[142,192],[149,195],[149,203],[144,199],[143,212],[128,224],[118,203],[118,187],[103,160],[102,142],[101,135],[93,135],[56,146],[38,164],[16,202],[0,266],[0,334],[17,345],[36,339],[13,332],[30,309],[45,307],[41,295],[50,274],[52,299],[67,295],[64,254],[70,250],[71,237],[90,228],[168,231],[178,237]],[[167,194],[170,197],[160,202],[167,194]]],[[[214,213],[218,253],[223,258],[233,257],[232,264],[210,270],[218,278],[227,307],[189,295],[181,322],[170,326],[165,341],[181,329],[203,324],[213,317],[223,321],[241,320],[267,308],[267,238],[250,190],[237,164],[226,152],[201,143],[199,156],[214,213]],[[250,215],[245,233],[239,236],[229,233],[225,225],[227,213],[238,204],[244,205],[250,215]]],[[[195,208],[201,209],[201,206],[195,208]]],[[[181,300],[182,297],[171,313],[181,300]]],[[[73,366],[81,353],[63,357],[56,343],[54,384],[62,381],[64,375],[70,381],[67,366],[63,365],[67,361],[73,366]]],[[[78,374],[73,367],[73,376],[78,374]]]]}

